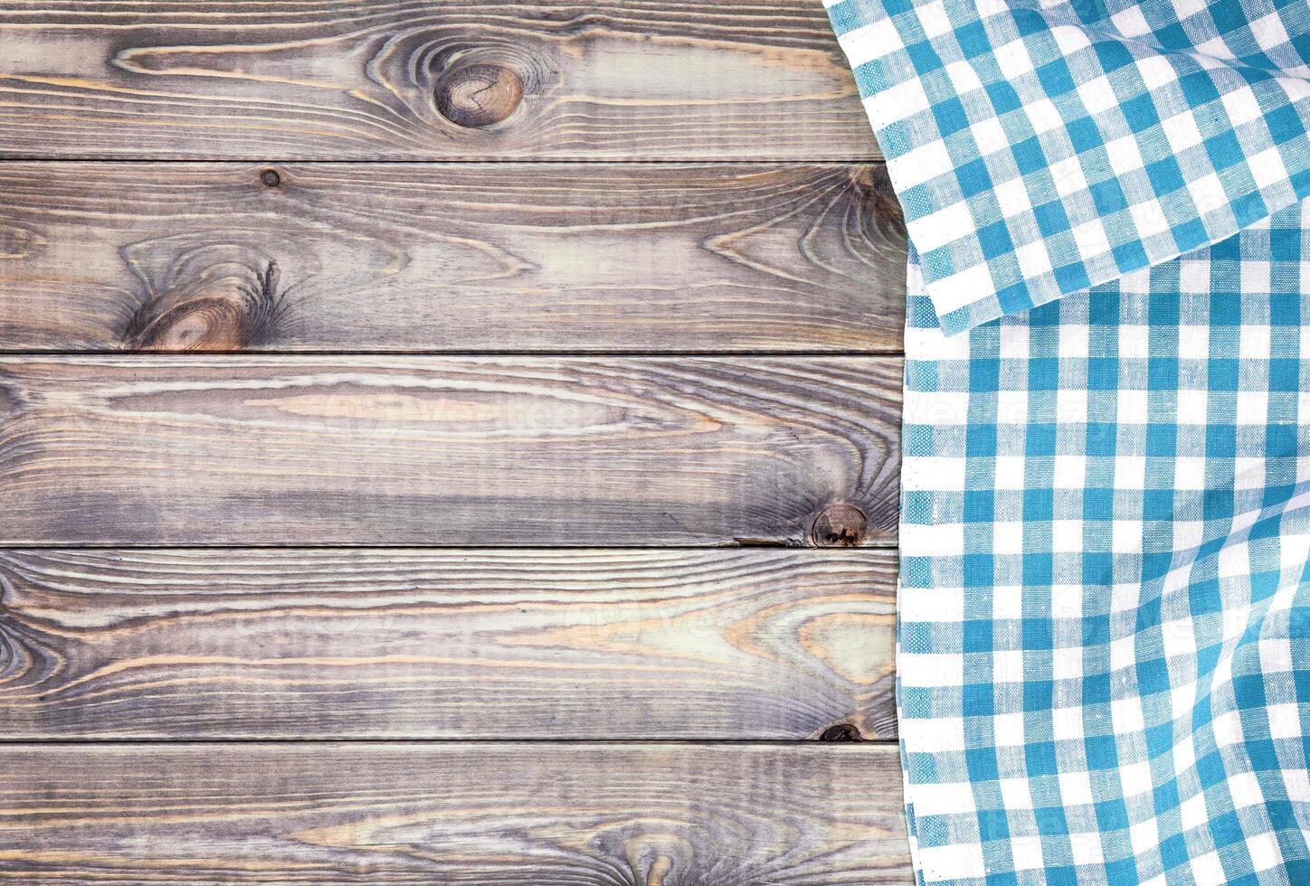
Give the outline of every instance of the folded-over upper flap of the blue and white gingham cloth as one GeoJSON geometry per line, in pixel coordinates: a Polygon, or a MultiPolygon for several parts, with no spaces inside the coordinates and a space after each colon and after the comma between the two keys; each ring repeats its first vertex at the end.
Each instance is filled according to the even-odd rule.
{"type": "Polygon", "coordinates": [[[1310,196],[1310,5],[837,0],[942,328],[1310,196]]]}

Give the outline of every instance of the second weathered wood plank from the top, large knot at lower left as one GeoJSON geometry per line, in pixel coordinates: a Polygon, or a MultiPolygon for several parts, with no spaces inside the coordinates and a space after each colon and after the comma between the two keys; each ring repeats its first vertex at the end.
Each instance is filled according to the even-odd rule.
{"type": "Polygon", "coordinates": [[[895,352],[904,293],[880,164],[0,164],[0,349],[895,352]]]}

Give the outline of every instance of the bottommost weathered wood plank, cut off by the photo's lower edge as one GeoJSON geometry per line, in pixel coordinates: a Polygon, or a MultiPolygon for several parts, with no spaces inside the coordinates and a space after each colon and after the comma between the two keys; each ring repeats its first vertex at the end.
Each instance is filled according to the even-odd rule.
{"type": "Polygon", "coordinates": [[[893,746],[0,747],[22,883],[912,883],[893,746]]]}

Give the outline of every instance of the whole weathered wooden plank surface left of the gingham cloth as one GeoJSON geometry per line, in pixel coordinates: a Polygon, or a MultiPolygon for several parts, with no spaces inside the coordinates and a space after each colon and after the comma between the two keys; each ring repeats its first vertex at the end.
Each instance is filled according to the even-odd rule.
{"type": "Polygon", "coordinates": [[[909,883],[819,0],[0,0],[0,881],[909,883]]]}

